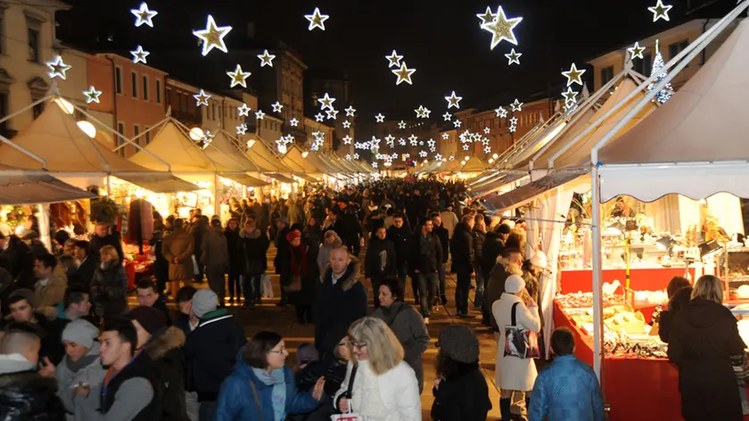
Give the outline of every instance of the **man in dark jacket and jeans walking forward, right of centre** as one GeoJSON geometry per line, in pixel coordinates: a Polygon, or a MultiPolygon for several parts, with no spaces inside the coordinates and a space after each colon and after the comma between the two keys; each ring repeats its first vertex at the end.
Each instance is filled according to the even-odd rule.
{"type": "Polygon", "coordinates": [[[432,220],[426,220],[416,228],[411,259],[411,282],[419,288],[419,307],[424,323],[429,324],[429,313],[437,295],[438,270],[442,264],[440,239],[432,234],[432,220]]]}

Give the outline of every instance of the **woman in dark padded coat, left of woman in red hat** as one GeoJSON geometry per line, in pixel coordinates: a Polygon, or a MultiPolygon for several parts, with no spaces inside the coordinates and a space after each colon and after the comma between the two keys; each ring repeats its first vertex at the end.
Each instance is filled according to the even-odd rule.
{"type": "Polygon", "coordinates": [[[244,307],[252,309],[262,298],[260,278],[268,270],[270,242],[268,235],[257,226],[257,220],[253,218],[245,219],[239,236],[243,253],[244,307]]]}

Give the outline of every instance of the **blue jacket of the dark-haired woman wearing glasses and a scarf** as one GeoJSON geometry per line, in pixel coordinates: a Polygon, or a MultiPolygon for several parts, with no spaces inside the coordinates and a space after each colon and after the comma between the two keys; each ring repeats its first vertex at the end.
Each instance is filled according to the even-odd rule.
{"type": "MultiPolygon", "coordinates": [[[[294,373],[290,367],[284,367],[284,381],[286,383],[286,415],[304,414],[311,412],[320,405],[311,393],[301,393],[294,382],[294,373]]],[[[252,367],[244,362],[242,353],[237,356],[236,367],[231,376],[226,377],[218,392],[218,408],[216,421],[275,421],[273,419],[273,387],[262,383],[254,373],[252,367]],[[255,397],[250,387],[255,384],[258,391],[260,408],[263,417],[260,418],[255,397]]]]}

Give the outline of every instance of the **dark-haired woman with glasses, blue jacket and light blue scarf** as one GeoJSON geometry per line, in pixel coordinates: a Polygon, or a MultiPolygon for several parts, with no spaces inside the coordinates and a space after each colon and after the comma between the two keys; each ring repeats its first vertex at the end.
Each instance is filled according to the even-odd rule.
{"type": "Polygon", "coordinates": [[[325,378],[312,392],[299,392],[284,339],[274,332],[259,332],[239,353],[234,372],[221,385],[216,421],[284,420],[310,412],[323,399],[325,378]]]}

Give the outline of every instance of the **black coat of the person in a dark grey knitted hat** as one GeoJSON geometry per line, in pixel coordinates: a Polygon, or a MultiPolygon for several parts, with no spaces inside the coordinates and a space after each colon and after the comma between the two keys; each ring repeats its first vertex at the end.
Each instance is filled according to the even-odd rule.
{"type": "Polygon", "coordinates": [[[491,410],[489,387],[478,363],[461,364],[458,372],[443,379],[432,393],[434,421],[484,421],[491,410]]]}

